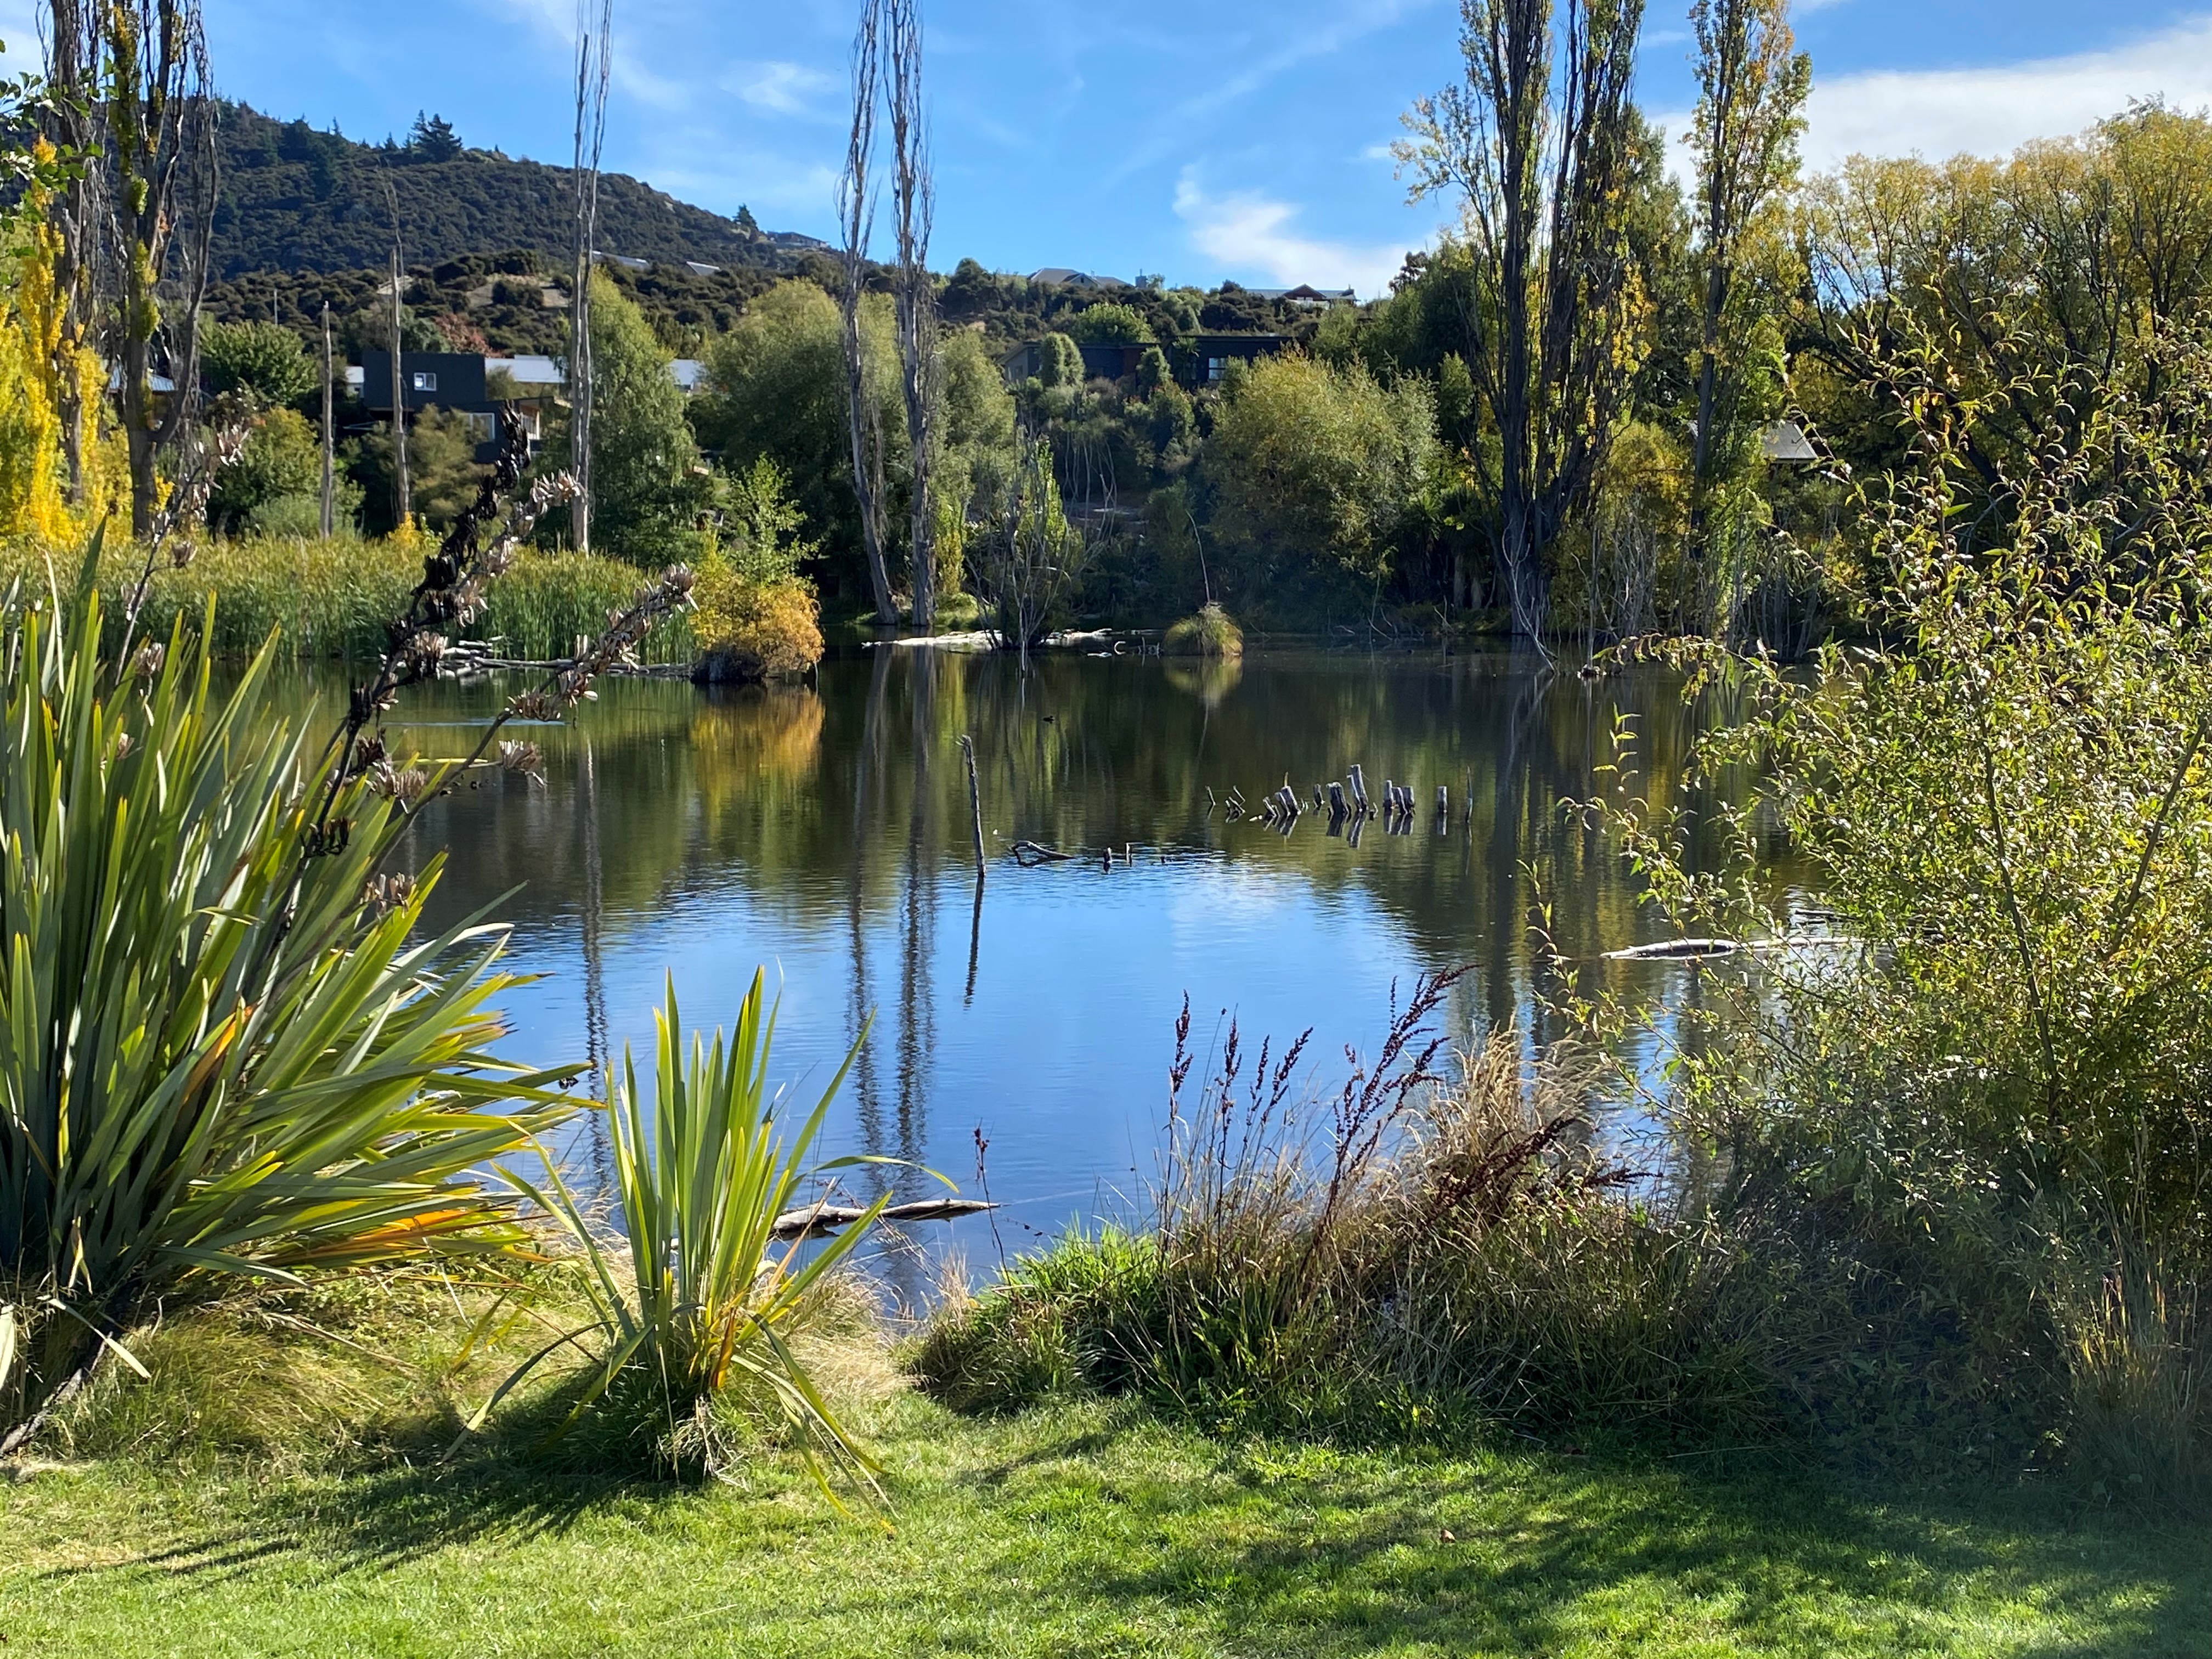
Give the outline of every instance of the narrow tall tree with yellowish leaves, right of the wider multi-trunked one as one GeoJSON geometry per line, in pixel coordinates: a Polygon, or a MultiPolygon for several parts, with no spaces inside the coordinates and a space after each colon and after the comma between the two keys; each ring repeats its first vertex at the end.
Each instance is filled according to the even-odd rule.
{"type": "Polygon", "coordinates": [[[1690,440],[1697,520],[1712,489],[1723,387],[1723,323],[1745,232],[1761,208],[1796,179],[1798,133],[1812,60],[1794,51],[1790,0],[1697,0],[1699,102],[1690,128],[1705,265],[1705,310],[1697,356],[1697,434],[1690,440]]]}

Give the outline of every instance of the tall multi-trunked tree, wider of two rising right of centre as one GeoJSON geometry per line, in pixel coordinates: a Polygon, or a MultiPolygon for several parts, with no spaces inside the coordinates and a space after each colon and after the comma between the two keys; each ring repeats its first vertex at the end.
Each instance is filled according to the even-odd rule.
{"type": "Polygon", "coordinates": [[[1644,0],[1460,0],[1464,80],[1396,146],[1453,192],[1471,265],[1462,352],[1498,436],[1482,480],[1513,628],[1544,626],[1544,546],[1606,456],[1637,367],[1628,97],[1644,0]]]}

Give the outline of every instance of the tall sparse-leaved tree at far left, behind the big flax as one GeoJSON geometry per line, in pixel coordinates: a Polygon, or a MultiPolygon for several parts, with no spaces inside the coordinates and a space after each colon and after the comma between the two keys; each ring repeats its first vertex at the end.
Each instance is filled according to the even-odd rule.
{"type": "MultiPolygon", "coordinates": [[[[71,347],[115,365],[115,403],[131,447],[131,529],[153,531],[157,456],[197,411],[199,312],[219,188],[215,80],[199,0],[49,0],[49,77],[58,122],[84,153],[66,192],[64,292],[71,347]],[[155,363],[173,380],[153,387],[155,363]]],[[[64,411],[82,482],[84,411],[64,411]],[[69,418],[69,416],[75,418],[69,418]]]]}

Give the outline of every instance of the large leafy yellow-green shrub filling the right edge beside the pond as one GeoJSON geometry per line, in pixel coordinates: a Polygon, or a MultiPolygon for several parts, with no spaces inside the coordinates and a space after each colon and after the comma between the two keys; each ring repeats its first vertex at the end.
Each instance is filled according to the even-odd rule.
{"type": "MultiPolygon", "coordinates": [[[[2212,343],[2168,341],[2159,367],[2148,398],[2066,387],[2079,422],[1982,522],[1960,511],[1982,458],[1942,352],[1893,363],[1911,471],[1876,493],[1885,568],[1860,604],[1878,633],[1809,672],[1672,648],[1732,710],[1699,779],[1754,768],[1761,785],[1719,807],[1721,858],[1710,836],[1692,856],[1677,818],[1621,821],[1683,931],[1803,933],[1765,876],[1781,838],[1832,933],[1708,973],[1663,1040],[1677,1133],[1725,1170],[1714,1203],[1772,1217],[1794,1294],[1863,1334],[1805,1376],[1829,1431],[2048,1440],[2090,1486],[2141,1491],[2157,1467],[2168,1504],[2212,1504],[2194,1292],[2212,1265],[2212,343]]],[[[2048,394],[2022,374],[2024,407],[2048,394]]]]}

